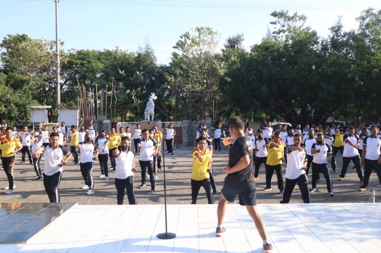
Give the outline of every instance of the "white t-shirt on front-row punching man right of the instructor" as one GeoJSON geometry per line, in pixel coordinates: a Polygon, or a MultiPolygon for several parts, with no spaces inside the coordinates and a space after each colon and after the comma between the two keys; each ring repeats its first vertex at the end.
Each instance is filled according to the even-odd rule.
{"type": "Polygon", "coordinates": [[[290,147],[294,146],[287,146],[286,153],[287,153],[287,170],[285,173],[285,177],[288,179],[296,179],[299,176],[306,173],[305,170],[303,170],[303,163],[307,161],[306,152],[303,151],[289,151],[290,147]]]}

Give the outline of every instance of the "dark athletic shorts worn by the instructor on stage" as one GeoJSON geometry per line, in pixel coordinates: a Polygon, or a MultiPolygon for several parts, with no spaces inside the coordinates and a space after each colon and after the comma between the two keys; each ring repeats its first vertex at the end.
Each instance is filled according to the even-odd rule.
{"type": "Polygon", "coordinates": [[[234,202],[234,199],[239,197],[240,205],[257,205],[256,186],[232,187],[224,185],[221,193],[229,202],[234,202]]]}

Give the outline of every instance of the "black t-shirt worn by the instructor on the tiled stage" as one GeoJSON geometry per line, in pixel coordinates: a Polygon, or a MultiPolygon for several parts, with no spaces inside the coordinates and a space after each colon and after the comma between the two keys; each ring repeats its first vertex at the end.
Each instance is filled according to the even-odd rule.
{"type": "Polygon", "coordinates": [[[233,187],[246,187],[255,185],[254,176],[252,173],[252,142],[247,137],[242,136],[236,139],[229,151],[229,166],[233,167],[238,161],[248,155],[250,163],[246,168],[228,174],[225,177],[224,184],[233,187]]]}

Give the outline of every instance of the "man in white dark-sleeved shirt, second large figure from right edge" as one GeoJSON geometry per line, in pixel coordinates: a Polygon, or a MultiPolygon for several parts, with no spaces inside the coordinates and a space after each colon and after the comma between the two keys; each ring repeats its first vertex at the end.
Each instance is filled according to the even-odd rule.
{"type": "Polygon", "coordinates": [[[357,175],[360,179],[360,183],[363,183],[364,172],[360,165],[359,155],[359,136],[355,134],[355,128],[348,128],[348,134],[343,137],[344,152],[342,154],[342,167],[339,175],[339,180],[344,180],[346,170],[351,161],[355,164],[357,175]]]}

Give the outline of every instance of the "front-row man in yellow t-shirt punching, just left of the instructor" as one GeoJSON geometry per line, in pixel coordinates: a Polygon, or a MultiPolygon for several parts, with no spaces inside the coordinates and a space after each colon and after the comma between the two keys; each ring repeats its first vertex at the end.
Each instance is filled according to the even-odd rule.
{"type": "Polygon", "coordinates": [[[196,204],[200,188],[204,187],[208,204],[213,204],[212,186],[209,172],[211,171],[212,152],[206,148],[206,138],[199,138],[199,148],[192,151],[193,168],[190,185],[192,186],[192,204],[196,204]]]}

